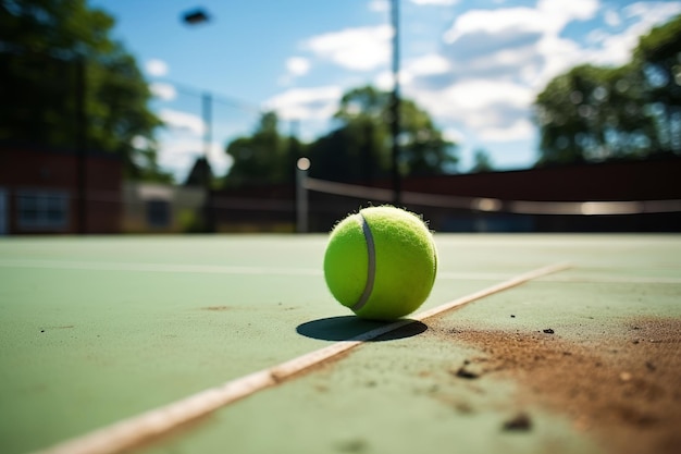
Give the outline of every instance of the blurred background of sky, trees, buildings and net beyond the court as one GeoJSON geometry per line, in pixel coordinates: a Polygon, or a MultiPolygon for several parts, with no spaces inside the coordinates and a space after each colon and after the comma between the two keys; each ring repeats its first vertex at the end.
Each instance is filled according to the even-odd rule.
{"type": "Polygon", "coordinates": [[[0,0],[0,235],[681,231],[681,1],[0,0]]]}

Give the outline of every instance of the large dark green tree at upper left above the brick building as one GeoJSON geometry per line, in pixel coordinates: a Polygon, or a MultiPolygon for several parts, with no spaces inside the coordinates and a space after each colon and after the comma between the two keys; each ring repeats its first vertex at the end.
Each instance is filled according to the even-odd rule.
{"type": "Polygon", "coordinates": [[[113,25],[86,0],[0,2],[0,139],[108,151],[128,177],[168,181],[151,94],[113,25]]]}

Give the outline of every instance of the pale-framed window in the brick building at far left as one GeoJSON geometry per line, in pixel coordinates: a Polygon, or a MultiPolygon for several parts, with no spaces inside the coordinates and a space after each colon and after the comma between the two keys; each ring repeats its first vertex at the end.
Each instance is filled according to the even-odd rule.
{"type": "Polygon", "coordinates": [[[20,229],[61,230],[69,225],[69,195],[64,192],[21,191],[16,201],[20,229]]]}

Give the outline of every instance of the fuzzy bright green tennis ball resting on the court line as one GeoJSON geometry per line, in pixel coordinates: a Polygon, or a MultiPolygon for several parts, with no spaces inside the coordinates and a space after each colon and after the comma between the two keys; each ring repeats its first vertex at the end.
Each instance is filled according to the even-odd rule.
{"type": "Polygon", "coordinates": [[[394,320],[428,298],[437,271],[433,236],[420,217],[384,206],[364,208],[332,230],[324,278],[357,316],[394,320]]]}

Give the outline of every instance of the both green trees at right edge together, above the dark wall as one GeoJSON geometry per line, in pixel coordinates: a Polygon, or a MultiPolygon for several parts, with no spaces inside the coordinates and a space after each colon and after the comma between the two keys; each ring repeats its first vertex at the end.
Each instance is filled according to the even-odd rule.
{"type": "Polygon", "coordinates": [[[641,37],[619,68],[581,65],[535,100],[537,164],[681,152],[681,16],[641,37]]]}

